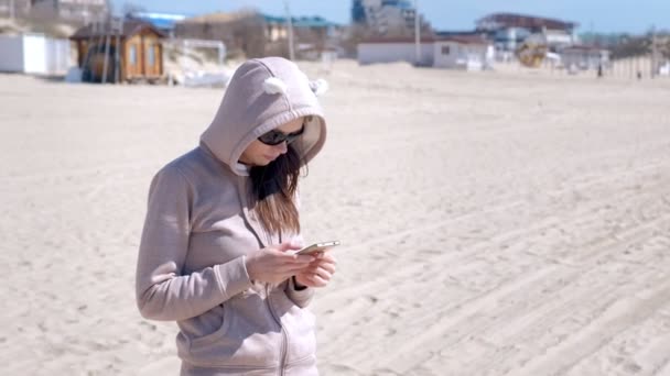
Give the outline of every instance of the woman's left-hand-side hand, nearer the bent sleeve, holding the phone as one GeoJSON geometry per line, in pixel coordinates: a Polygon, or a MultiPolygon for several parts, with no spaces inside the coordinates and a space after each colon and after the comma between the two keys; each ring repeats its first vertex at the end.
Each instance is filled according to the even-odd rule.
{"type": "Polygon", "coordinates": [[[270,245],[247,256],[249,278],[269,284],[280,284],[298,274],[316,259],[313,255],[295,255],[289,252],[300,248],[291,242],[284,242],[270,245]]]}

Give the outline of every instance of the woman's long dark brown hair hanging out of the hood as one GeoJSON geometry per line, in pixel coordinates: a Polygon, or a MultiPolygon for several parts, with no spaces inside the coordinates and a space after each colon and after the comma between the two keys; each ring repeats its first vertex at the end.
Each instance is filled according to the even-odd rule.
{"type": "Polygon", "coordinates": [[[300,177],[300,155],[291,146],[267,166],[250,170],[251,196],[260,222],[270,233],[299,233],[300,214],[295,206],[295,191],[300,177]]]}

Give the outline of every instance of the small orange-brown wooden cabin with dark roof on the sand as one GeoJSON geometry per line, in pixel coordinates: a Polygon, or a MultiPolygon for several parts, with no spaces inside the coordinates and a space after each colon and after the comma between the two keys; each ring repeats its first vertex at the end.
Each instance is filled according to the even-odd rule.
{"type": "Polygon", "coordinates": [[[69,40],[77,45],[83,81],[155,82],[163,77],[161,40],[164,37],[165,34],[152,24],[130,20],[116,29],[109,23],[89,24],[77,30],[69,40]],[[120,46],[118,55],[117,41],[120,46]]]}

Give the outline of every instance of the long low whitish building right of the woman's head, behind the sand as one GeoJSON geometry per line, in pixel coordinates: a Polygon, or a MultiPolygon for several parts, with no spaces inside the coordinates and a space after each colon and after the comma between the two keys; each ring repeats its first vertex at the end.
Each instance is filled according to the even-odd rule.
{"type": "Polygon", "coordinates": [[[488,66],[493,54],[490,42],[479,36],[446,36],[422,38],[420,58],[413,38],[377,38],[358,44],[358,63],[407,62],[420,66],[480,70],[488,66]]]}

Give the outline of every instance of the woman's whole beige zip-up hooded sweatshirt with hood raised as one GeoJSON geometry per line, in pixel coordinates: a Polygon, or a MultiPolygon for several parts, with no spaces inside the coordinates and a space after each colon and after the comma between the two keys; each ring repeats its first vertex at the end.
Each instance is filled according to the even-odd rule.
{"type": "Polygon", "coordinates": [[[253,283],[252,252],[280,239],[249,201],[239,164],[261,134],[306,117],[294,141],[307,163],[325,141],[314,89],[287,59],[252,59],[229,82],[199,146],[164,166],[149,191],[137,267],[137,302],[151,320],[176,321],[182,375],[316,375],[313,290],[253,283]]]}

